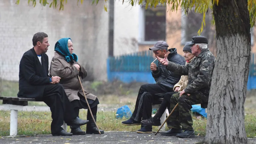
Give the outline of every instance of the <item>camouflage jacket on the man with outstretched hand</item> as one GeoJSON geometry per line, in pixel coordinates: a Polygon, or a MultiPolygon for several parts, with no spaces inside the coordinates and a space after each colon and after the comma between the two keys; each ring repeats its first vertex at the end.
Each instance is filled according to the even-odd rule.
{"type": "Polygon", "coordinates": [[[195,56],[191,63],[179,65],[169,61],[166,69],[188,76],[188,86],[184,89],[185,93],[209,96],[214,67],[215,57],[207,48],[195,56]]]}

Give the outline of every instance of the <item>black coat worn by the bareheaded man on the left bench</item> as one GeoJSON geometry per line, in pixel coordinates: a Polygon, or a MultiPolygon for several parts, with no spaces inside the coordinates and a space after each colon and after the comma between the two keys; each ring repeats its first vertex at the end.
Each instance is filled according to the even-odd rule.
{"type": "Polygon", "coordinates": [[[26,51],[20,60],[19,98],[42,98],[45,85],[50,84],[48,75],[49,61],[45,53],[41,54],[42,65],[34,48],[26,51]]]}

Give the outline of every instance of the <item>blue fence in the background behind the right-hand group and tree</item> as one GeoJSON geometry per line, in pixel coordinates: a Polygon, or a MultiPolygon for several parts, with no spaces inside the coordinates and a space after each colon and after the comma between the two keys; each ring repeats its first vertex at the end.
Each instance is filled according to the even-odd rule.
{"type": "MultiPolygon", "coordinates": [[[[152,51],[109,57],[107,59],[108,81],[155,83],[150,70],[150,63],[155,60],[152,51]]],[[[154,62],[157,64],[157,61],[154,62]]],[[[256,89],[256,54],[251,54],[247,89],[256,89]]]]}

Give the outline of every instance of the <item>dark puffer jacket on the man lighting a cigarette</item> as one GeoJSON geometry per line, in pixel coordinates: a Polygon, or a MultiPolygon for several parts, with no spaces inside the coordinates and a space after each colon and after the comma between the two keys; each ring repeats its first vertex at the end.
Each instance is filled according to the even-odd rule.
{"type": "MultiPolygon", "coordinates": [[[[177,53],[176,48],[168,49],[170,52],[167,59],[175,64],[185,65],[185,58],[177,53]]],[[[158,67],[156,71],[152,71],[152,76],[154,77],[156,83],[166,86],[173,90],[173,86],[179,82],[181,73],[174,73],[166,70],[166,66],[158,62],[158,67]]]]}

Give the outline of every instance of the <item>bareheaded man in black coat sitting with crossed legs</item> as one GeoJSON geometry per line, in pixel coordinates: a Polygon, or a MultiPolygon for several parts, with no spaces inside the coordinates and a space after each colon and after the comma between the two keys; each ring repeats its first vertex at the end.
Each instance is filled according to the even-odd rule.
{"type": "Polygon", "coordinates": [[[76,117],[64,88],[59,84],[60,77],[48,75],[49,61],[45,54],[48,50],[48,35],[38,32],[32,39],[33,48],[26,51],[20,60],[19,98],[35,98],[44,101],[52,112],[51,133],[53,136],[71,136],[61,127],[63,121],[69,126],[88,123],[76,117]]]}

